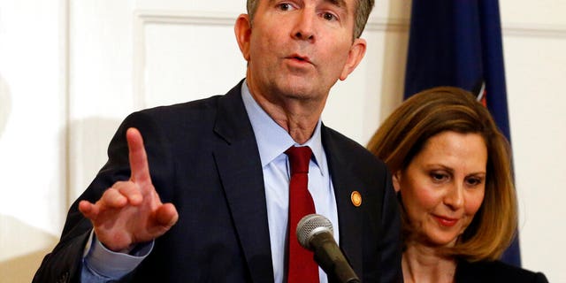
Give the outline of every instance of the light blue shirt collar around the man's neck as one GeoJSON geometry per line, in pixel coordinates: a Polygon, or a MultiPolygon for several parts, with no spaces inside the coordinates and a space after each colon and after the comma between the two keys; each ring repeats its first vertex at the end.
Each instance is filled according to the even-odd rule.
{"type": "Polygon", "coordinates": [[[320,128],[322,126],[321,119],[318,119],[317,127],[312,137],[310,137],[310,140],[303,144],[298,144],[294,142],[291,135],[289,135],[283,127],[279,126],[264,109],[256,103],[256,100],[249,93],[247,81],[241,84],[241,98],[248,112],[249,121],[251,122],[254,134],[256,135],[257,148],[259,149],[262,167],[270,164],[273,159],[279,157],[279,155],[293,145],[309,146],[312,150],[312,155],[315,157],[315,164],[320,168],[320,172],[325,175],[325,152],[320,134],[320,128]]]}

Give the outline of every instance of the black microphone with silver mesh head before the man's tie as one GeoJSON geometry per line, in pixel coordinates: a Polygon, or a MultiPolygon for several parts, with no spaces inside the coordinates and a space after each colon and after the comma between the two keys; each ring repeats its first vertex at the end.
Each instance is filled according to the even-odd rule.
{"type": "Polygon", "coordinates": [[[334,241],[333,224],[322,215],[309,214],[297,224],[297,240],[302,248],[314,252],[314,259],[328,275],[340,283],[359,283],[360,279],[334,241]]]}

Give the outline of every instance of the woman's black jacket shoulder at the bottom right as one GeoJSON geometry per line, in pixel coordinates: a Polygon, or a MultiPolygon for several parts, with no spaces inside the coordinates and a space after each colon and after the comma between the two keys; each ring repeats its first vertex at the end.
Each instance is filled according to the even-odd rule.
{"type": "Polygon", "coordinates": [[[456,283],[548,283],[540,272],[530,272],[513,265],[494,262],[468,263],[461,261],[456,267],[456,283]]]}

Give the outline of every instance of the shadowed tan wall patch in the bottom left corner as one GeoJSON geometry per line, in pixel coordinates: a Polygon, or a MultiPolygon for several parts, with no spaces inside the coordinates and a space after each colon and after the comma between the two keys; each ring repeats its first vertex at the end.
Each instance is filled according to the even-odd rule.
{"type": "Polygon", "coordinates": [[[55,247],[57,239],[16,218],[0,215],[0,280],[31,282],[43,256],[55,247]]]}

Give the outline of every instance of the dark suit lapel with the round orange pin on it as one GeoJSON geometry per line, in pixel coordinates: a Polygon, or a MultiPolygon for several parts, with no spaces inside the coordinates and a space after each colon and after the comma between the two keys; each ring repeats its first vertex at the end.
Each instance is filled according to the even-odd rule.
{"type": "Polygon", "coordinates": [[[360,241],[360,235],[363,233],[363,214],[361,213],[362,207],[356,207],[352,203],[351,195],[352,192],[358,191],[363,197],[365,187],[356,177],[354,168],[356,160],[348,156],[348,152],[345,152],[344,147],[340,145],[340,139],[330,133],[325,126],[322,128],[322,142],[333,181],[334,195],[336,195],[340,249],[348,257],[356,273],[361,276],[363,274],[363,242],[360,241]]]}

